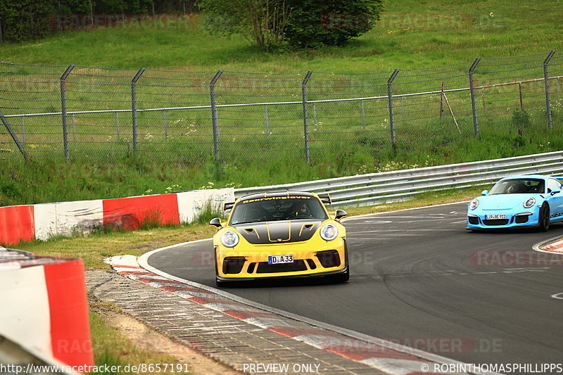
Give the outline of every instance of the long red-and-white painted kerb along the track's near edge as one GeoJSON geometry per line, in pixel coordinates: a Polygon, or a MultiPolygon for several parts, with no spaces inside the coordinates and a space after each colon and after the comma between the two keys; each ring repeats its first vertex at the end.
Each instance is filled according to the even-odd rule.
{"type": "MultiPolygon", "coordinates": [[[[160,276],[139,266],[137,257],[120,255],[106,258],[108,263],[118,274],[129,279],[140,281],[155,288],[179,295],[186,300],[203,305],[210,309],[229,315],[243,322],[259,326],[263,329],[278,333],[281,336],[293,338],[336,355],[362,362],[391,375],[433,374],[427,372],[434,369],[434,364],[461,364],[429,352],[409,348],[398,343],[391,343],[380,339],[362,340],[345,335],[331,329],[306,324],[301,319],[289,317],[253,307],[239,302],[241,298],[233,295],[227,298],[222,292],[215,293],[214,288],[199,288],[182,281],[160,276]],[[235,300],[237,299],[237,300],[235,300]],[[426,366],[425,366],[426,365],[426,366]],[[424,371],[426,369],[426,371],[424,371]]],[[[307,320],[303,318],[303,320],[307,320]]],[[[446,374],[441,372],[441,374],[446,374]]],[[[454,372],[447,374],[481,374],[479,372],[454,372]]],[[[492,373],[488,373],[492,374],[492,373]]]]}

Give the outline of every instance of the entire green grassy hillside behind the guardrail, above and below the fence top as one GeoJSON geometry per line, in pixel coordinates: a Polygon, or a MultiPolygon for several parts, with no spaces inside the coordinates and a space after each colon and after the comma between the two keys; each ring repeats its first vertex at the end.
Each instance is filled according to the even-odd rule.
{"type": "MultiPolygon", "coordinates": [[[[88,91],[89,85],[75,82],[69,87],[70,108],[127,108],[130,101],[129,76],[141,66],[206,71],[209,73],[190,77],[199,77],[208,82],[218,69],[265,73],[308,70],[377,72],[458,64],[451,69],[462,77],[454,78],[455,82],[447,82],[448,89],[455,84],[467,86],[464,76],[469,68],[467,63],[476,57],[546,54],[552,49],[561,49],[559,35],[563,25],[558,19],[561,11],[561,0],[536,1],[519,6],[501,0],[388,1],[381,23],[343,48],[262,53],[243,37],[217,37],[203,32],[201,20],[196,16],[180,29],[118,27],[66,32],[34,42],[1,44],[0,53],[3,61],[13,63],[63,65],[63,68],[18,68],[18,74],[22,77],[39,70],[56,77],[53,82],[31,90],[52,90],[54,94],[49,94],[49,100],[42,101],[47,94],[35,92],[21,96],[33,100],[36,106],[33,110],[39,112],[60,110],[59,70],[70,63],[82,65],[76,68],[76,73],[82,74],[103,73],[99,69],[84,68],[88,66],[132,69],[116,78],[124,86],[118,90],[120,94],[111,97],[80,92],[88,91]],[[115,103],[107,103],[104,99],[115,101],[119,106],[115,107],[115,103]]],[[[542,59],[543,55],[538,58],[542,59]]],[[[490,76],[502,81],[505,79],[502,75],[510,78],[508,76],[517,74],[514,71],[502,72],[501,67],[495,68],[497,72],[491,75],[487,72],[491,63],[495,61],[482,63],[479,82],[487,83],[490,76]]],[[[433,68],[424,72],[448,69],[433,68]]],[[[183,77],[184,73],[167,74],[177,78],[183,77]]],[[[315,74],[327,80],[336,79],[331,75],[315,74]]],[[[429,82],[427,87],[420,83],[424,87],[411,87],[413,84],[407,75],[402,77],[401,74],[396,79],[399,91],[439,89],[436,85],[441,83],[429,82]]],[[[525,68],[521,74],[529,78],[541,76],[543,72],[538,68],[525,68]]],[[[152,92],[150,83],[158,82],[155,81],[158,72],[147,71],[145,75],[144,81],[139,81],[139,108],[160,106],[166,103],[171,94],[175,94],[174,87],[157,88],[158,92],[153,92],[152,98],[158,103],[144,102],[143,98],[147,96],[143,95],[152,92]],[[142,82],[148,83],[143,86],[142,82]]],[[[236,77],[246,76],[224,73],[224,80],[236,82],[236,77]]],[[[296,77],[301,80],[303,75],[296,77]]],[[[386,82],[387,73],[367,77],[369,80],[386,82]]],[[[350,77],[346,76],[346,79],[350,80],[350,77]]],[[[361,82],[355,81],[353,85],[361,82]]],[[[20,163],[21,157],[11,141],[0,145],[1,149],[9,148],[12,151],[0,154],[6,157],[6,160],[0,160],[0,205],[117,198],[201,189],[204,186],[283,184],[557,151],[563,148],[563,110],[559,91],[555,94],[555,82],[553,84],[553,129],[547,129],[545,110],[541,109],[545,106],[545,98],[539,91],[533,91],[531,85],[523,85],[522,105],[530,118],[524,124],[517,123],[522,116],[514,115],[519,108],[517,86],[477,92],[480,139],[473,136],[467,93],[448,94],[460,126],[459,131],[448,110],[442,118],[438,117],[440,95],[405,98],[404,103],[396,101],[395,147],[391,147],[388,108],[384,99],[365,101],[365,130],[358,102],[331,105],[317,103],[314,108],[315,119],[312,117],[313,108],[309,105],[310,165],[305,163],[303,157],[301,104],[283,112],[277,112],[276,106],[272,106],[268,113],[269,128],[265,125],[263,108],[251,111],[220,108],[222,160],[219,163],[213,158],[210,113],[207,109],[167,113],[166,130],[161,113],[139,113],[137,155],[132,152],[130,115],[120,115],[119,129],[115,114],[96,117],[76,115],[68,120],[68,162],[62,160],[61,118],[26,117],[25,127],[18,125],[15,131],[20,138],[24,133],[27,136],[26,148],[32,161],[20,163]],[[346,113],[345,118],[342,113],[346,113]],[[241,148],[243,151],[239,151],[241,148]],[[265,155],[268,158],[263,158],[265,155]]],[[[289,87],[275,92],[278,98],[298,100],[291,96],[295,95],[293,89],[289,87]]],[[[227,96],[224,94],[228,94],[228,91],[222,92],[221,87],[217,90],[221,103],[257,100],[252,93],[227,96]]],[[[363,90],[363,93],[369,88],[341,88],[337,85],[329,89],[312,88],[309,99],[327,95],[332,97],[333,94],[338,94],[338,97],[362,94],[354,90],[363,90]]],[[[262,94],[269,94],[272,88],[262,91],[262,94]]],[[[194,88],[194,94],[194,98],[182,98],[184,104],[198,104],[199,101],[208,103],[209,93],[205,84],[201,88],[194,88]]],[[[386,94],[385,88],[381,94],[386,94]]],[[[12,112],[20,113],[19,110],[12,112]]],[[[19,124],[20,119],[14,121],[19,124]]]]}

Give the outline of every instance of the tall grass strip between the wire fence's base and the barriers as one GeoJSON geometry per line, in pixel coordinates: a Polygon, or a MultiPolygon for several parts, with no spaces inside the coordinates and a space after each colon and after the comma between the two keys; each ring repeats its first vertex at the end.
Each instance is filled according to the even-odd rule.
{"type": "MultiPolygon", "coordinates": [[[[0,205],[120,198],[191,189],[264,186],[314,179],[365,174],[412,167],[506,158],[557,151],[563,148],[562,125],[546,129],[540,117],[528,125],[512,124],[512,113],[481,118],[481,138],[472,134],[472,125],[463,134],[452,131],[444,121],[434,127],[434,136],[421,139],[419,127],[399,125],[400,139],[391,148],[386,136],[358,130],[346,144],[315,149],[319,138],[312,134],[312,163],[293,153],[302,152],[302,140],[294,149],[272,153],[267,160],[236,160],[216,163],[212,157],[191,162],[163,163],[150,157],[115,158],[111,163],[69,161],[56,155],[30,163],[0,165],[0,205]],[[446,131],[445,129],[450,129],[446,131]],[[296,151],[297,150],[297,151],[296,151]],[[317,152],[318,151],[318,152],[317,152]],[[325,153],[331,151],[332,155],[325,153]]],[[[386,132],[385,132],[386,133],[386,132]]],[[[386,135],[386,134],[385,134],[386,135]]],[[[267,147],[261,149],[263,153],[267,147]]],[[[228,160],[228,158],[227,158],[228,160]]]]}

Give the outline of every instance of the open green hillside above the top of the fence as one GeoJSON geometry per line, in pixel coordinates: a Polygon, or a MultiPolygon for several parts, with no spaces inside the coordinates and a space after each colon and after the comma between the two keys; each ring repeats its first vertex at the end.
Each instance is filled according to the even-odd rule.
{"type": "Polygon", "coordinates": [[[121,27],[56,34],[0,46],[2,60],[110,68],[182,68],[254,72],[377,72],[477,57],[561,49],[563,2],[506,0],[387,1],[374,30],[344,48],[260,53],[240,36],[217,37],[191,18],[176,27],[121,27]],[[493,17],[491,17],[491,13],[493,17]]]}

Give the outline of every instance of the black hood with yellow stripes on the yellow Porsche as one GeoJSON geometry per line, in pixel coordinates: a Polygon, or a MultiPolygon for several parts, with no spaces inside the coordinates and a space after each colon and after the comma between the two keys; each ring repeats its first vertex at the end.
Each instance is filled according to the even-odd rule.
{"type": "Polygon", "coordinates": [[[233,225],[253,245],[307,241],[315,234],[322,220],[283,220],[233,225]]]}

